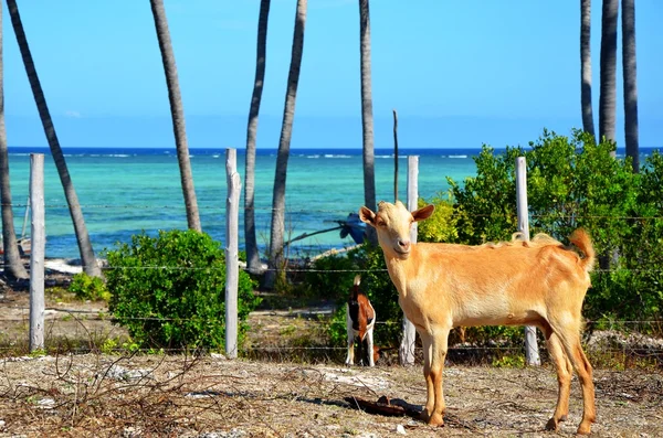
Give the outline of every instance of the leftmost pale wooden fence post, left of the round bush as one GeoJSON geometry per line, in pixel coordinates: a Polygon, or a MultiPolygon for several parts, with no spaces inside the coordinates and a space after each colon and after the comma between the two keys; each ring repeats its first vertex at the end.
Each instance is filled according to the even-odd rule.
{"type": "Polygon", "coordinates": [[[30,352],[44,348],[44,154],[30,154],[30,352]]]}

